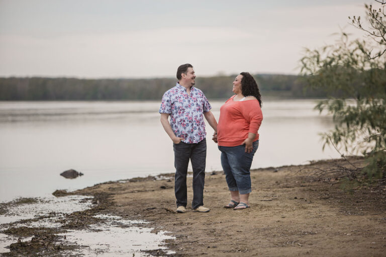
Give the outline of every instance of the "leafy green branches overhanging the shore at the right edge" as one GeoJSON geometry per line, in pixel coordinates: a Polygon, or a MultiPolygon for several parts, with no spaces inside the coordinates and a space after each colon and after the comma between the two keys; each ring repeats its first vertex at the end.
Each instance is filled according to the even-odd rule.
{"type": "Polygon", "coordinates": [[[386,175],[386,16],[385,3],[377,2],[379,9],[365,5],[367,24],[349,17],[365,40],[350,41],[342,33],[335,45],[306,49],[301,59],[305,81],[329,95],[315,109],[333,114],[336,122],[334,130],[322,134],[323,149],[333,145],[362,153],[369,180],[386,175]]]}

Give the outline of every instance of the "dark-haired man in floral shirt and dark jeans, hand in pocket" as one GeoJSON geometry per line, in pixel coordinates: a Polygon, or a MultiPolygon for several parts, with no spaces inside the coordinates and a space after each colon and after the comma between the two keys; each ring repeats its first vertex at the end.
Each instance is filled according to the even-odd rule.
{"type": "Polygon", "coordinates": [[[187,204],[186,174],[189,159],[193,168],[193,211],[208,212],[204,207],[205,161],[207,142],[205,122],[217,132],[217,121],[210,111],[212,108],[204,93],[193,87],[195,71],[190,64],[180,65],[177,69],[175,87],[167,90],[163,97],[159,113],[162,126],[173,141],[175,182],[174,192],[177,212],[185,213],[187,204]],[[170,116],[170,122],[168,117],[170,116]]]}

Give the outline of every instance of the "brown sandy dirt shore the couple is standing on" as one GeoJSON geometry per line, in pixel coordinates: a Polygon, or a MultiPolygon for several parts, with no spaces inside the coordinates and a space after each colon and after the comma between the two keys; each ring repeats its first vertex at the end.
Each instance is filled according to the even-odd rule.
{"type": "MultiPolygon", "coordinates": [[[[359,167],[363,159],[351,158],[350,163],[329,160],[253,170],[251,208],[245,210],[223,208],[229,200],[225,175],[207,174],[204,205],[211,208],[208,213],[192,212],[191,186],[187,212],[174,212],[173,174],[106,182],[72,192],[94,196],[94,207],[61,222],[63,228],[82,229],[99,222],[91,218],[94,214],[146,220],[145,226],[154,228],[154,233],[166,230],[176,237],[165,241],[175,251],[168,256],[384,256],[386,187],[342,190],[342,173],[336,171],[359,167]]],[[[191,185],[191,177],[187,183],[191,185]]],[[[41,255],[61,256],[60,247],[55,248],[55,231],[39,231],[46,233],[43,239],[51,248],[16,243],[3,255],[18,256],[34,249],[41,255]]],[[[161,249],[148,253],[166,255],[161,249]]]]}

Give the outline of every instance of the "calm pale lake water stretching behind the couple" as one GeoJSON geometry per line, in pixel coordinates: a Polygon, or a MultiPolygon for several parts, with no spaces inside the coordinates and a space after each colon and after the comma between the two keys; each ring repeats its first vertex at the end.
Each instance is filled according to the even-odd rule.
{"type": "MultiPolygon", "coordinates": [[[[217,119],[223,102],[211,101],[217,119]]],[[[159,104],[0,101],[0,201],[174,172],[172,142],[159,121],[159,104]],[[59,176],[67,169],[84,176],[74,180],[59,176]]],[[[252,168],[339,157],[335,150],[322,151],[318,133],[334,124],[331,117],[314,111],[314,105],[313,100],[263,103],[252,168]]],[[[209,125],[207,132],[213,134],[209,125]]],[[[222,170],[220,152],[208,140],[207,172],[213,170],[222,170]]]]}

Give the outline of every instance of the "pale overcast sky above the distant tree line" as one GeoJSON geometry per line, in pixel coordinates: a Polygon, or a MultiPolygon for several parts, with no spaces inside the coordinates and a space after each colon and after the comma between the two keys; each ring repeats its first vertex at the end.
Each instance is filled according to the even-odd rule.
{"type": "Polygon", "coordinates": [[[0,76],[298,74],[303,49],[333,43],[357,0],[0,0],[0,76]]]}

